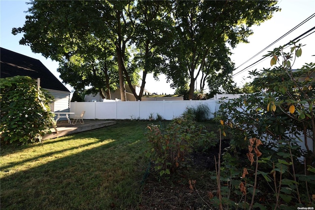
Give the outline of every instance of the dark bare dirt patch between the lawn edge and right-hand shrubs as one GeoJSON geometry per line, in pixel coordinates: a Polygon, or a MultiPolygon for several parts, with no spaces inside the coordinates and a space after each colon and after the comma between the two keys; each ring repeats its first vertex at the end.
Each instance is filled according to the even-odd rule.
{"type": "MultiPolygon", "coordinates": [[[[229,146],[222,140],[222,151],[229,146]]],[[[141,210],[209,210],[209,196],[217,191],[215,156],[219,145],[189,156],[189,166],[181,168],[172,178],[159,177],[151,166],[151,173],[142,188],[141,210]],[[190,180],[190,184],[189,184],[190,180]],[[194,183],[195,181],[195,183],[194,183]]]]}

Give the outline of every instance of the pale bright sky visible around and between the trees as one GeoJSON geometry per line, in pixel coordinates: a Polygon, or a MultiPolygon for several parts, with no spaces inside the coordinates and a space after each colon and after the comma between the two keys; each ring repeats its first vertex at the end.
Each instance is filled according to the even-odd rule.
{"type": "MultiPolygon", "coordinates": [[[[0,46],[40,60],[58,79],[61,80],[59,77],[60,73],[57,71],[59,66],[58,62],[46,59],[41,54],[33,53],[30,46],[20,45],[19,40],[23,37],[22,34],[11,34],[12,28],[23,27],[25,23],[25,11],[30,7],[26,2],[29,1],[0,0],[0,46]]],[[[261,59],[263,55],[267,54],[267,51],[271,51],[280,45],[286,44],[315,26],[315,18],[313,18],[267,48],[251,61],[243,64],[252,58],[253,55],[266,48],[269,44],[273,43],[315,13],[315,0],[279,0],[277,5],[281,8],[281,11],[274,13],[271,19],[261,23],[259,26],[252,27],[253,35],[249,36],[249,43],[240,43],[236,48],[231,50],[233,53],[231,55],[231,60],[235,63],[235,68],[237,68],[233,73],[250,66],[261,59]]],[[[306,45],[302,48],[302,56],[295,62],[293,66],[294,69],[301,68],[305,63],[315,63],[315,56],[312,56],[315,55],[315,33],[305,37],[299,43],[306,45]]],[[[261,70],[263,68],[270,68],[270,59],[263,60],[248,70],[261,70]]],[[[238,86],[242,86],[245,81],[249,81],[246,80],[248,70],[233,77],[238,86]]],[[[199,84],[197,84],[197,86],[198,85],[199,84]]],[[[66,84],[65,86],[70,91],[73,90],[71,86],[66,84]]],[[[173,94],[175,91],[170,88],[170,83],[166,83],[164,75],[160,75],[159,81],[155,81],[152,74],[149,74],[147,76],[145,88],[149,92],[158,94],[173,94]]]]}

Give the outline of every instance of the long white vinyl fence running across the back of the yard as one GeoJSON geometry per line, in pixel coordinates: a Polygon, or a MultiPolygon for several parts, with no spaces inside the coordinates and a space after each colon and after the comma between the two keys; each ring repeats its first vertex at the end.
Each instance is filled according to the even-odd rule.
{"type": "MultiPolygon", "coordinates": [[[[215,100],[205,101],[152,101],[152,102],[71,102],[70,112],[79,115],[85,111],[84,119],[149,119],[151,113],[165,120],[180,116],[187,107],[204,104],[210,109],[208,118],[213,118],[220,104],[215,100]]],[[[70,114],[73,118],[74,114],[70,114]]]]}

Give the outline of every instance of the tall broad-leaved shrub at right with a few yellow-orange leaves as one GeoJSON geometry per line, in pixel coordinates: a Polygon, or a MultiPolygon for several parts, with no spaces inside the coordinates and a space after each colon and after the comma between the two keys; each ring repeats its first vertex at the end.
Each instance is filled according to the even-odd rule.
{"type": "MultiPolygon", "coordinates": [[[[262,91],[238,99],[223,100],[217,112],[216,119],[221,122],[223,135],[225,132],[233,133],[232,148],[239,153],[250,148],[248,140],[251,142],[252,138],[257,137],[262,141],[259,160],[254,160],[251,151],[247,153],[248,159],[251,163],[255,162],[256,167],[250,168],[254,177],[249,172],[250,175],[243,181],[247,187],[244,195],[251,193],[252,185],[260,186],[257,195],[252,195],[250,209],[257,205],[273,209],[284,205],[301,206],[312,203],[311,196],[315,193],[315,175],[307,171],[315,163],[315,138],[312,134],[315,131],[315,64],[292,70],[295,58],[301,56],[302,52],[301,44],[292,44],[290,53],[285,53],[284,47],[279,47],[266,55],[271,57],[273,69],[251,72],[255,77],[251,86],[262,91]],[[280,58],[283,58],[282,62],[280,58]],[[277,64],[280,66],[275,66],[277,64]],[[305,139],[297,139],[301,134],[305,139]],[[313,140],[313,148],[308,146],[307,137],[313,140]],[[300,141],[304,141],[306,151],[301,149],[300,141]],[[266,200],[259,201],[257,197],[265,197],[266,200]],[[272,205],[267,203],[268,199],[273,201],[272,205]]],[[[232,163],[233,172],[242,173],[241,169],[245,167],[245,164],[240,165],[242,156],[236,158],[239,162],[232,163]]],[[[246,203],[247,197],[244,199],[246,203]]]]}

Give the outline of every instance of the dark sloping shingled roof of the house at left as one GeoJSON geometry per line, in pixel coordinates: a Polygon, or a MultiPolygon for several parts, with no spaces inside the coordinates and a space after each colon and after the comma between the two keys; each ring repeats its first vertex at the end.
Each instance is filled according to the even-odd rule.
{"type": "Polygon", "coordinates": [[[2,47],[0,49],[1,78],[18,75],[40,78],[42,88],[70,92],[39,60],[2,47]]]}

